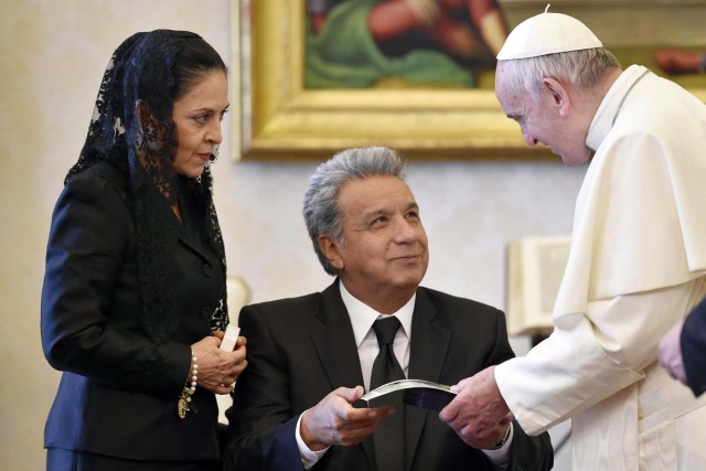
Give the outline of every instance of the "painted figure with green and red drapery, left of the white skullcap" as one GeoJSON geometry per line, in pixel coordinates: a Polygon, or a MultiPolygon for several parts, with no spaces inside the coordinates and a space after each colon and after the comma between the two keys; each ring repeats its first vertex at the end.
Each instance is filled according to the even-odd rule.
{"type": "Polygon", "coordinates": [[[496,0],[308,0],[304,86],[474,87],[507,35],[496,0]]]}

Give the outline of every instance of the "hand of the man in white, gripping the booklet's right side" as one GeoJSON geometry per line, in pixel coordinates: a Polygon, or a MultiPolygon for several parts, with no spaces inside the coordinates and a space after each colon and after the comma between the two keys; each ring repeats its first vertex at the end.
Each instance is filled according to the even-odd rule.
{"type": "MultiPolygon", "coordinates": [[[[473,447],[488,446],[486,439],[495,439],[498,426],[507,419],[510,413],[495,383],[494,372],[495,366],[490,366],[459,382],[453,386],[458,396],[439,413],[439,418],[473,447]]],[[[503,430],[505,428],[502,427],[503,430]]]]}

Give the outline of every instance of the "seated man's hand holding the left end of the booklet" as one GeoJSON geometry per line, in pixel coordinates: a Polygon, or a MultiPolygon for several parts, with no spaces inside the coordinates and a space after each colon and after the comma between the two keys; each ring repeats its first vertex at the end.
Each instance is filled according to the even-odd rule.
{"type": "Polygon", "coordinates": [[[302,415],[301,439],[310,450],[323,450],[331,445],[357,445],[375,431],[382,419],[394,414],[393,406],[353,408],[352,404],[363,393],[362,386],[339,387],[302,415]]]}

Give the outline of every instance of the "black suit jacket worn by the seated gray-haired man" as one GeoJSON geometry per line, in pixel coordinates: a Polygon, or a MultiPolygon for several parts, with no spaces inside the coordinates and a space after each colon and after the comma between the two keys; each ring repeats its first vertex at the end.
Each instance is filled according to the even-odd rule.
{"type": "MultiPolygon", "coordinates": [[[[338,387],[363,385],[338,281],[321,293],[245,307],[239,325],[248,342],[248,366],[226,413],[231,426],[225,469],[300,470],[295,430],[301,413],[338,387]]],[[[442,384],[456,384],[514,356],[501,311],[427,288],[417,290],[410,342],[408,377],[442,384]]],[[[438,413],[405,409],[407,470],[492,469],[438,413]]],[[[528,437],[517,422],[514,428],[510,469],[550,469],[548,435],[528,437]]],[[[313,469],[373,470],[368,443],[331,447],[313,469]]]]}

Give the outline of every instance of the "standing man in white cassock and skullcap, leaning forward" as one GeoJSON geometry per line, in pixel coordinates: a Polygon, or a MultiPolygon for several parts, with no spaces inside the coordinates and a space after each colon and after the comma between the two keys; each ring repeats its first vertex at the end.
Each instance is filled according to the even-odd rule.
{"type": "Polygon", "coordinates": [[[571,419],[574,470],[706,469],[706,395],[656,361],[706,293],[706,105],[546,10],[498,60],[495,94],[527,146],[589,164],[553,333],[461,381],[441,420],[468,439],[509,411],[530,433],[571,419]]]}

